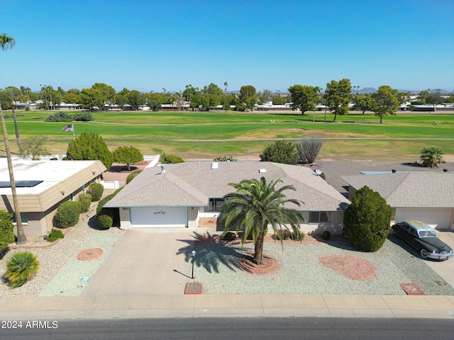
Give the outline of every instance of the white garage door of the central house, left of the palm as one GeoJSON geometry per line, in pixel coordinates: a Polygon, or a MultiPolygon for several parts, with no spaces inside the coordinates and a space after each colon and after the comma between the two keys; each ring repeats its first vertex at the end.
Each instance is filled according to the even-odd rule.
{"type": "Polygon", "coordinates": [[[187,208],[131,208],[131,227],[187,227],[187,208]]]}

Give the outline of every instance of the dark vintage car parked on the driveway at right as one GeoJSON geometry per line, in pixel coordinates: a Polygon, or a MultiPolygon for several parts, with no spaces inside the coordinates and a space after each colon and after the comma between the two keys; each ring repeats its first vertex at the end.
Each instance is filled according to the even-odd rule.
{"type": "Polygon", "coordinates": [[[435,230],[420,221],[403,221],[391,229],[411,246],[414,246],[423,259],[447,260],[453,257],[453,249],[438,238],[435,230]]]}

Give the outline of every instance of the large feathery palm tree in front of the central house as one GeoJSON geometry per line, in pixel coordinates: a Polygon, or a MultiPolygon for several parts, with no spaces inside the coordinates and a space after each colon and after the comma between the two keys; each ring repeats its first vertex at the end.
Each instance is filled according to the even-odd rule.
{"type": "Polygon", "coordinates": [[[286,190],[296,191],[294,186],[276,188],[281,182],[282,179],[277,179],[267,183],[265,177],[262,177],[260,181],[251,179],[229,183],[229,186],[236,188],[236,192],[223,197],[225,203],[221,206],[220,215],[221,222],[225,222],[223,234],[231,227],[236,227],[236,232],[242,230],[241,245],[252,234],[255,245],[254,261],[258,264],[262,264],[263,261],[263,239],[269,225],[274,232],[282,228],[289,230],[290,225],[296,239],[301,239],[299,225],[304,217],[301,212],[285,205],[293,203],[299,206],[302,202],[284,195],[283,192],[286,190]]]}

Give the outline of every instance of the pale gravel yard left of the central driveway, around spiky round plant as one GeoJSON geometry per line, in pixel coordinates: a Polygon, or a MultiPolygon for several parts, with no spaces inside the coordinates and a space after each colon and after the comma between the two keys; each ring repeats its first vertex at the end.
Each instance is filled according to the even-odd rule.
{"type": "MultiPolygon", "coordinates": [[[[105,193],[107,194],[107,193],[105,193]]],[[[123,230],[111,228],[99,230],[90,227],[96,224],[96,203],[92,203],[89,212],[82,213],[79,223],[72,227],[65,238],[60,239],[52,246],[48,242],[38,242],[39,246],[26,249],[11,249],[3,259],[0,259],[0,297],[6,296],[77,296],[82,293],[87,283],[82,283],[85,276],[93,276],[104,259],[109,256],[112,247],[123,230]],[[43,247],[44,245],[45,247],[43,247]],[[101,248],[103,254],[98,259],[81,261],[77,254],[90,248],[101,248]],[[31,251],[40,261],[40,268],[35,277],[18,288],[9,288],[3,274],[6,271],[6,261],[11,259],[17,251],[31,251]]]]}

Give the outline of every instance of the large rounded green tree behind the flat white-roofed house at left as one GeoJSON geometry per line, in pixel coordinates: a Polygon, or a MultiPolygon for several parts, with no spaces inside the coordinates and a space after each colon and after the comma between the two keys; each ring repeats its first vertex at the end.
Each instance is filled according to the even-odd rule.
{"type": "Polygon", "coordinates": [[[102,140],[102,137],[93,132],[83,132],[82,135],[70,142],[66,154],[68,159],[99,159],[107,170],[111,169],[111,165],[114,162],[114,156],[109,151],[104,140],[102,140]]]}

